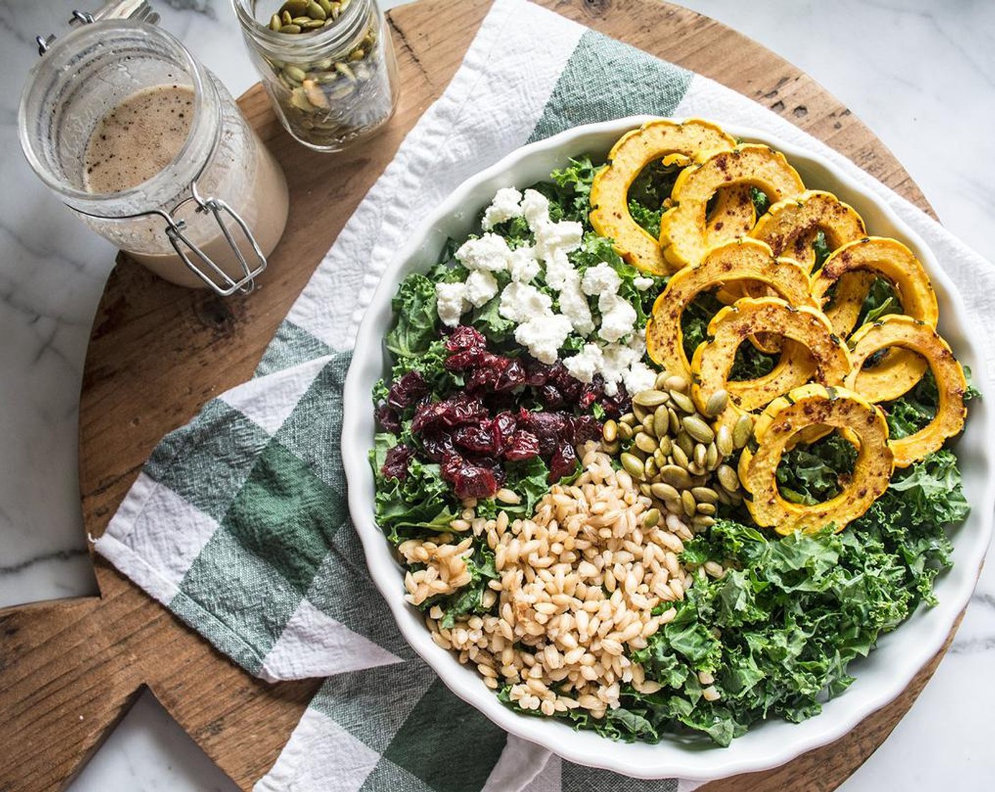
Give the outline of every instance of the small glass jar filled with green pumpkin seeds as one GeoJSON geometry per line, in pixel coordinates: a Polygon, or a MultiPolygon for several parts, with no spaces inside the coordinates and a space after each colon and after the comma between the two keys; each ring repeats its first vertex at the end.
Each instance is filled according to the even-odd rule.
{"type": "Polygon", "coordinates": [[[397,63],[375,0],[232,0],[249,53],[287,128],[339,151],[397,106],[397,63]]]}

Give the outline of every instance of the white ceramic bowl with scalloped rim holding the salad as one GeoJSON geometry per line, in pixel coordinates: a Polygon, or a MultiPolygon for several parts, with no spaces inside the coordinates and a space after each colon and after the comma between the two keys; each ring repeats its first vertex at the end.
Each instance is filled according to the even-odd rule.
{"type": "MultiPolygon", "coordinates": [[[[467,179],[429,215],[412,235],[408,248],[398,254],[384,274],[359,328],[352,367],[345,382],[342,459],[348,477],[349,508],[370,574],[408,643],[457,695],[506,731],[570,761],[641,778],[708,780],[775,767],[843,736],[892,701],[919,668],[940,650],[974,590],[988,547],[995,498],[995,468],[989,449],[995,431],[990,406],[981,400],[972,402],[967,429],[956,447],[972,510],[967,521],[953,533],[954,567],[936,583],[939,605],[931,610],[919,608],[906,624],[885,636],[868,659],[852,663],[851,671],[857,681],[843,695],[829,701],[820,715],[799,724],[780,719],[758,723],[729,747],[718,748],[666,740],[657,745],[614,742],[591,731],[574,731],[561,721],[519,715],[502,705],[484,686],[476,670],[461,665],[454,655],[432,643],[419,611],[404,602],[402,569],[373,521],[373,475],[366,461],[375,431],[370,389],[389,371],[383,337],[391,324],[390,301],[406,275],[425,271],[436,262],[447,237],[460,238],[476,230],[474,223],[479,211],[489,204],[499,187],[523,188],[547,180],[549,171],[563,166],[570,155],[607,153],[623,132],[645,121],[647,118],[630,118],[578,127],[522,146],[467,179]]],[[[863,192],[821,157],[766,133],[731,125],[726,130],[744,140],[767,143],[783,151],[806,186],[836,193],[860,212],[871,233],[894,236],[908,245],[932,278],[939,301],[940,333],[958,358],[971,367],[979,390],[991,393],[986,387],[983,357],[974,346],[980,336],[970,333],[966,326],[960,296],[922,240],[886,204],[863,192]]]]}

